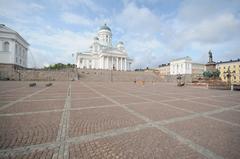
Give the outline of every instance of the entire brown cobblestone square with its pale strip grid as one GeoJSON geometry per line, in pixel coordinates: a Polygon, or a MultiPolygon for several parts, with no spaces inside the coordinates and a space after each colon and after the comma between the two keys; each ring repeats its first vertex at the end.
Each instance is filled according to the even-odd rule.
{"type": "Polygon", "coordinates": [[[240,93],[0,82],[0,159],[240,158],[240,93]]]}

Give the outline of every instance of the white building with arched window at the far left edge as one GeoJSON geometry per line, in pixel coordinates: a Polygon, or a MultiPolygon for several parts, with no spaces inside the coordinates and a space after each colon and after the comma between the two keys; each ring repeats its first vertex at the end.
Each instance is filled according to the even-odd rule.
{"type": "Polygon", "coordinates": [[[27,67],[29,44],[16,31],[0,24],[0,63],[27,67]]]}

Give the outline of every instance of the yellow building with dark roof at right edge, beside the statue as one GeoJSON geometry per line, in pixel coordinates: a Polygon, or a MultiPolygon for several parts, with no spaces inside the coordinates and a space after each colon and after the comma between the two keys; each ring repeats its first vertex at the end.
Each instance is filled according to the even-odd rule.
{"type": "Polygon", "coordinates": [[[227,82],[228,69],[231,74],[231,83],[240,84],[240,59],[218,62],[216,68],[220,71],[220,77],[227,82]]]}

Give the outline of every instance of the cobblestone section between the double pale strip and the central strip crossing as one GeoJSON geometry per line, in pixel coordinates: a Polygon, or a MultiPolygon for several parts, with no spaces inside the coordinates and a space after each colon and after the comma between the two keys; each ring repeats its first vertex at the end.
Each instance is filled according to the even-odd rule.
{"type": "Polygon", "coordinates": [[[143,123],[120,107],[70,112],[69,136],[81,136],[143,123]]]}

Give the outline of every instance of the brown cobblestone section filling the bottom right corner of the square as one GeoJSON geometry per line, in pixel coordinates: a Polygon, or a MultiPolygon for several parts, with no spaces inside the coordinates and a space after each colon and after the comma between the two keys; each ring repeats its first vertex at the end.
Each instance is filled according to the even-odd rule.
{"type": "Polygon", "coordinates": [[[224,158],[240,158],[239,126],[201,117],[167,127],[224,158]]]}

